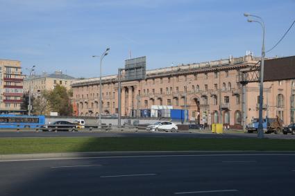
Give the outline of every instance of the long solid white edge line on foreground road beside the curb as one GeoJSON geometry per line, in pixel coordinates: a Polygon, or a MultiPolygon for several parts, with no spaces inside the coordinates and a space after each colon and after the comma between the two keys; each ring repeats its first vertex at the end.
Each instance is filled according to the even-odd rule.
{"type": "MultiPolygon", "coordinates": [[[[5,156],[5,155],[3,155],[5,156]]],[[[13,161],[49,161],[67,159],[115,159],[115,158],[144,158],[144,157],[237,157],[237,156],[295,156],[295,154],[164,154],[164,155],[127,155],[127,156],[106,156],[106,157],[58,157],[43,159],[10,159],[0,160],[0,162],[13,161]]]]}

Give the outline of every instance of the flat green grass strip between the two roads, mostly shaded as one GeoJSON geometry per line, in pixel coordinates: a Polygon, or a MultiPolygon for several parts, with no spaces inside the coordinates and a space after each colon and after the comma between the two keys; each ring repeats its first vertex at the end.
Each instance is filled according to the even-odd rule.
{"type": "Polygon", "coordinates": [[[196,138],[6,138],[0,154],[182,150],[295,150],[295,140],[196,138]]]}

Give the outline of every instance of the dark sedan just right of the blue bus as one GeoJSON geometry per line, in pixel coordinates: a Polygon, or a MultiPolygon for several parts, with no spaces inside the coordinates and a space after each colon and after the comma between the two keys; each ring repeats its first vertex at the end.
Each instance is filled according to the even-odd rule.
{"type": "Polygon", "coordinates": [[[56,121],[47,125],[41,126],[42,131],[75,131],[77,127],[76,123],[70,123],[68,121],[56,121]]]}

